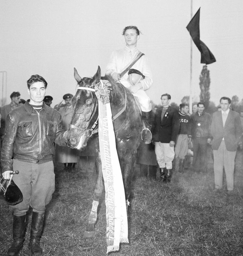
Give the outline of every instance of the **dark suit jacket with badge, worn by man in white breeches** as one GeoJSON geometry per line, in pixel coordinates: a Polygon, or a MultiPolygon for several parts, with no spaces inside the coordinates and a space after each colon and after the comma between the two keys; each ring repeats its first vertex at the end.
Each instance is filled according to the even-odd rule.
{"type": "Polygon", "coordinates": [[[176,141],[180,129],[179,112],[169,106],[161,120],[162,107],[156,109],[154,127],[152,129],[154,142],[170,143],[176,141]]]}

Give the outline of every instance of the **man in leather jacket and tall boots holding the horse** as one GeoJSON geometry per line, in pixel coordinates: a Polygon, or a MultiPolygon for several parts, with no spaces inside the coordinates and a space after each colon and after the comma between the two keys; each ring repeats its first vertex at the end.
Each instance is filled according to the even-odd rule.
{"type": "Polygon", "coordinates": [[[26,212],[31,206],[32,223],[29,248],[32,255],[41,255],[40,236],[46,205],[55,190],[52,157],[54,142],[66,146],[61,114],[43,103],[47,82],[40,75],[27,81],[30,100],[12,110],[6,119],[2,143],[2,176],[20,188],[23,201],[10,205],[14,212],[13,243],[8,255],[17,255],[24,242],[26,212]],[[12,171],[19,174],[12,175],[12,171]]]}

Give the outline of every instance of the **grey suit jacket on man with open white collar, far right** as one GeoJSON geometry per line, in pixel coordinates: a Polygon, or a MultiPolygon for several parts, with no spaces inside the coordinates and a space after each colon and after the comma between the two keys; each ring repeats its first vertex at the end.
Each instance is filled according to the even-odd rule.
{"type": "Polygon", "coordinates": [[[224,138],[226,149],[228,151],[236,151],[242,136],[239,113],[229,110],[228,117],[223,127],[222,112],[214,112],[211,132],[213,136],[212,149],[217,150],[224,138]]]}

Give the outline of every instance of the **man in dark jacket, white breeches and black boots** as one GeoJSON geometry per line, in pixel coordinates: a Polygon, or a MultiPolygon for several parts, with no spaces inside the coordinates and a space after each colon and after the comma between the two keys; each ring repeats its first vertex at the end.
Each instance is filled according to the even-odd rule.
{"type": "Polygon", "coordinates": [[[160,177],[164,182],[170,182],[172,177],[174,146],[180,129],[178,110],[169,105],[170,99],[170,94],[161,95],[162,107],[156,110],[152,132],[156,159],[160,167],[160,177]]]}

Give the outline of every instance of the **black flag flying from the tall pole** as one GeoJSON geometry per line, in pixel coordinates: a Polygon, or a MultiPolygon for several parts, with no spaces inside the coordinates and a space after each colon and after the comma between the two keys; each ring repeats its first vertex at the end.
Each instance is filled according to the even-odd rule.
{"type": "Polygon", "coordinates": [[[197,13],[193,16],[186,29],[189,31],[193,42],[201,52],[201,63],[211,64],[216,61],[211,51],[207,48],[206,44],[200,40],[200,8],[197,13]]]}

